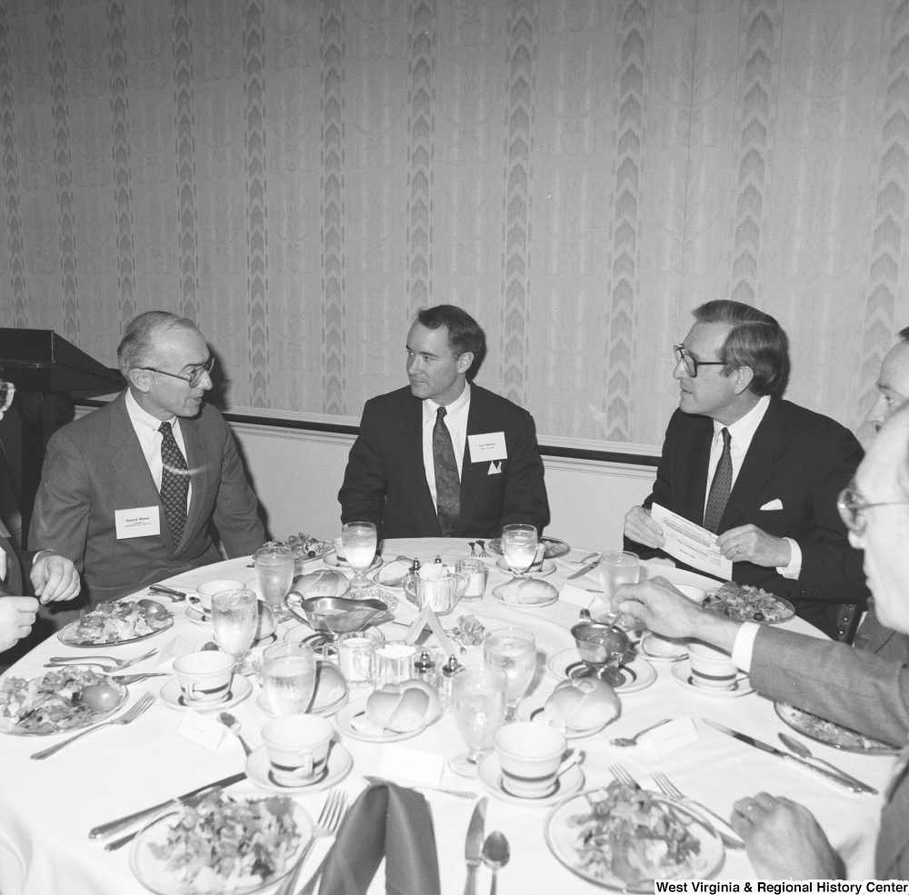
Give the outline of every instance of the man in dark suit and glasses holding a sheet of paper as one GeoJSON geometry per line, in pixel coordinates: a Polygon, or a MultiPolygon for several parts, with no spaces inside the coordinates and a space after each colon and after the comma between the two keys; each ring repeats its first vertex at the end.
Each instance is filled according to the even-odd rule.
{"type": "Polygon", "coordinates": [[[629,549],[664,545],[650,515],[658,503],[717,533],[735,582],[792,601],[835,638],[836,604],[867,598],[835,506],[862,448],[844,426],[782,400],[788,345],[773,317],[718,301],[694,318],[675,346],[681,399],[654,491],[625,516],[629,549]]]}

